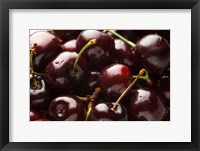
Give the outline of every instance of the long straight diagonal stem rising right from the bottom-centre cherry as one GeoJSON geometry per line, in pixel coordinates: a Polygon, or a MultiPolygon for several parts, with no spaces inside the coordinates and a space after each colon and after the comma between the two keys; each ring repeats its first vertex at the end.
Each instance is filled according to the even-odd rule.
{"type": "Polygon", "coordinates": [[[146,69],[141,69],[137,75],[137,77],[133,80],[133,82],[124,90],[124,92],[120,95],[120,97],[117,99],[113,107],[111,108],[112,111],[115,111],[118,103],[122,100],[122,98],[128,93],[128,91],[134,86],[134,84],[137,82],[137,80],[145,73],[146,69]]]}

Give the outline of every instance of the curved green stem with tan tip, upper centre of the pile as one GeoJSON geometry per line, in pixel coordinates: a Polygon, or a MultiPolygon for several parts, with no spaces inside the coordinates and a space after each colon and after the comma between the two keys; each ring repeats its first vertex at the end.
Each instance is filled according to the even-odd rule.
{"type": "Polygon", "coordinates": [[[97,43],[97,40],[96,39],[91,39],[90,41],[88,41],[88,43],[80,50],[79,54],[78,54],[78,57],[76,58],[75,62],[74,62],[74,66],[73,66],[73,69],[71,71],[72,75],[75,74],[75,70],[76,70],[76,66],[77,66],[77,63],[82,55],[82,53],[88,48],[90,47],[91,45],[94,45],[97,43]]]}

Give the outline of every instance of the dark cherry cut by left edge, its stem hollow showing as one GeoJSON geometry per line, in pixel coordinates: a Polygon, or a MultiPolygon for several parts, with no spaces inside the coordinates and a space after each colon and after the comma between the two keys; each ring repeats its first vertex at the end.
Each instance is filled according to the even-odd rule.
{"type": "Polygon", "coordinates": [[[30,74],[30,106],[33,109],[46,109],[52,99],[52,91],[42,76],[30,74]]]}

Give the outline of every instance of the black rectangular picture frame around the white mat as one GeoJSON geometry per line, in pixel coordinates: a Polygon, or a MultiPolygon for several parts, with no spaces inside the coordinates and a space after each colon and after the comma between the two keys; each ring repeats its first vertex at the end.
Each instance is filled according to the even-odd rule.
{"type": "MultiPolygon", "coordinates": [[[[200,0],[0,0],[0,149],[7,150],[200,150],[200,0]],[[190,143],[9,142],[9,9],[191,9],[192,141],[190,143]]],[[[184,71],[183,71],[184,72],[184,71]]]]}

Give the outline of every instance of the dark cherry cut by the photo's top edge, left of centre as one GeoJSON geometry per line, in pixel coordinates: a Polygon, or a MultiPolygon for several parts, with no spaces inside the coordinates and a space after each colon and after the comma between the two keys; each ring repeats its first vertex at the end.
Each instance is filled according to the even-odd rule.
{"type": "Polygon", "coordinates": [[[65,43],[77,38],[81,30],[49,30],[49,32],[54,34],[56,37],[59,37],[62,40],[62,43],[65,43]]]}

